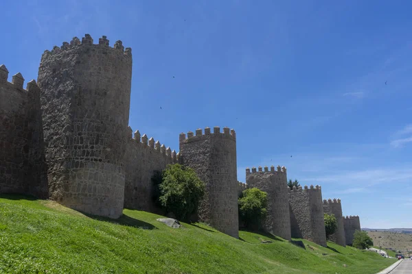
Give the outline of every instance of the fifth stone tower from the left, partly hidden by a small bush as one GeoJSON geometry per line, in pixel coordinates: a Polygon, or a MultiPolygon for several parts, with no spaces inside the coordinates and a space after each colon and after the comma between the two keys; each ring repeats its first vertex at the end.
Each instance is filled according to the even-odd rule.
{"type": "Polygon", "coordinates": [[[326,214],[334,214],[334,216],[336,217],[336,221],[338,222],[336,232],[330,235],[330,240],[338,245],[345,247],[345,225],[343,224],[341,199],[324,199],[323,212],[326,214]]]}

